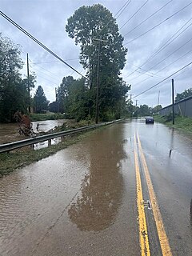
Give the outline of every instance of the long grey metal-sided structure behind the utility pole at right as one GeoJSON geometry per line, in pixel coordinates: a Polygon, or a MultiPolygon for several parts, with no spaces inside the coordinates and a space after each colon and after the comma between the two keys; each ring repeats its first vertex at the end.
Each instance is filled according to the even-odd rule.
{"type": "MultiPolygon", "coordinates": [[[[169,105],[159,110],[158,114],[167,115],[167,114],[170,114],[171,112],[172,112],[172,105],[169,105]]],[[[179,102],[175,102],[174,112],[175,114],[181,114],[182,116],[192,118],[192,96],[188,98],[184,98],[179,102]]]]}

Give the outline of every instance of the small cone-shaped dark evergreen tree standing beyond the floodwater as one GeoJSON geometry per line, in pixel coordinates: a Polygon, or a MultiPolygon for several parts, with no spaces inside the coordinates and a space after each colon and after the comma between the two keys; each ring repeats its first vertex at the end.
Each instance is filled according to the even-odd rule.
{"type": "Polygon", "coordinates": [[[35,113],[41,113],[42,110],[48,109],[49,101],[46,99],[46,95],[42,89],[42,86],[38,86],[36,93],[34,94],[34,110],[35,113]]]}

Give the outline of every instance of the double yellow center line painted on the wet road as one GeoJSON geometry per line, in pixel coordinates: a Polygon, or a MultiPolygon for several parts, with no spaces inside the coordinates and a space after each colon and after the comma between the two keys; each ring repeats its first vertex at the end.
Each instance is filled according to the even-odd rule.
{"type": "MultiPolygon", "coordinates": [[[[146,184],[148,186],[148,191],[150,194],[150,202],[151,202],[151,206],[154,214],[154,221],[158,231],[159,242],[162,248],[162,255],[172,256],[172,253],[170,250],[170,244],[166,236],[166,230],[162,222],[162,215],[158,207],[157,198],[154,194],[154,188],[150,179],[150,172],[146,165],[146,158],[143,154],[142,145],[141,145],[138,134],[137,134],[137,138],[138,138],[138,150],[141,156],[142,166],[143,166],[144,174],[146,177],[146,184]]],[[[143,198],[142,198],[142,183],[141,183],[140,171],[138,167],[138,154],[137,154],[137,144],[136,144],[135,134],[134,134],[134,162],[135,162],[137,194],[138,194],[139,239],[141,244],[141,254],[142,256],[146,256],[146,255],[150,255],[150,246],[149,246],[149,238],[148,238],[147,227],[146,227],[146,216],[145,216],[145,210],[144,210],[143,198]],[[143,230],[144,230],[144,233],[143,233],[143,230]]]]}

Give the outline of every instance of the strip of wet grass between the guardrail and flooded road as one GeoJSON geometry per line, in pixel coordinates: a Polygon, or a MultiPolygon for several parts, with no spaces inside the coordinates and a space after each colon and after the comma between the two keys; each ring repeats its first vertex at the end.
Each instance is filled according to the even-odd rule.
{"type": "MultiPolygon", "coordinates": [[[[104,128],[105,127],[99,127],[97,130],[104,128]]],[[[10,153],[2,153],[0,154],[0,178],[2,178],[3,175],[10,174],[10,172],[17,170],[18,168],[27,166],[32,162],[37,162],[42,158],[47,158],[58,152],[58,150],[65,149],[67,146],[90,136],[90,134],[93,134],[95,131],[96,130],[90,130],[74,134],[72,136],[67,136],[63,142],[40,150],[32,150],[30,147],[25,147],[19,150],[10,151],[10,153]]]]}

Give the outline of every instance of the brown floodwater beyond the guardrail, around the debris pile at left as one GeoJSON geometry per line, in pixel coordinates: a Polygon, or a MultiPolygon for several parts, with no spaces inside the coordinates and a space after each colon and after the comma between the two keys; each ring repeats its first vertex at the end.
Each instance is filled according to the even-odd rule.
{"type": "MultiPolygon", "coordinates": [[[[46,120],[46,121],[38,121],[32,122],[34,132],[48,131],[53,129],[55,126],[62,126],[64,119],[59,120],[46,120]],[[39,128],[37,131],[37,124],[39,123],[39,128]]],[[[9,142],[15,142],[22,139],[26,139],[26,137],[19,135],[18,133],[18,124],[17,123],[9,123],[3,124],[0,123],[0,145],[9,142]]]]}

